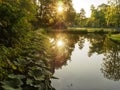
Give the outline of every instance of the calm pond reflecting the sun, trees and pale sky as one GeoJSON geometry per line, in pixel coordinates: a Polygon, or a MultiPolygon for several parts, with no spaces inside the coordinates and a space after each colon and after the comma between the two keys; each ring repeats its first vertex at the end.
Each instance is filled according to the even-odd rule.
{"type": "Polygon", "coordinates": [[[49,34],[56,90],[120,90],[120,43],[100,34],[49,34]]]}

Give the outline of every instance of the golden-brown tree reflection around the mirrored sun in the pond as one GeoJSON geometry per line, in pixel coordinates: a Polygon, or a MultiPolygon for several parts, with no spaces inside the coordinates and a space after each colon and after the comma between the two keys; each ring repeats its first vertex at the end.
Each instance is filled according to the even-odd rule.
{"type": "Polygon", "coordinates": [[[50,38],[54,38],[54,42],[56,43],[57,40],[62,40],[64,45],[61,47],[53,46],[53,61],[51,61],[51,69],[54,73],[55,69],[61,68],[63,65],[67,65],[67,60],[71,60],[72,51],[75,48],[75,43],[77,43],[79,37],[74,34],[54,34],[52,36],[49,35],[50,38]]]}

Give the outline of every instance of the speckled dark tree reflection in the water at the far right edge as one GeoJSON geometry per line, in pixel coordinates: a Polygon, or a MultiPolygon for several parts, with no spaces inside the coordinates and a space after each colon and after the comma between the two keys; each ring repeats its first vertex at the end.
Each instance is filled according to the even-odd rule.
{"type": "Polygon", "coordinates": [[[107,39],[104,42],[105,58],[101,68],[104,77],[120,80],[120,45],[107,39]]]}

